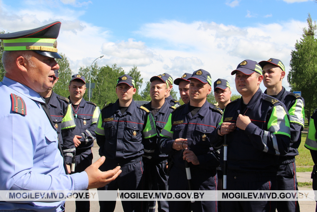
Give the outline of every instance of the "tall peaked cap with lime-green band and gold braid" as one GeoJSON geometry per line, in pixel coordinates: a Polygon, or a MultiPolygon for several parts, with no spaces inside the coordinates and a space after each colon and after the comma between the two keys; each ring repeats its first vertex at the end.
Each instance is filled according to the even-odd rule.
{"type": "Polygon", "coordinates": [[[55,21],[32,30],[0,34],[4,51],[32,50],[49,58],[59,58],[57,41],[61,22],[55,21]]]}

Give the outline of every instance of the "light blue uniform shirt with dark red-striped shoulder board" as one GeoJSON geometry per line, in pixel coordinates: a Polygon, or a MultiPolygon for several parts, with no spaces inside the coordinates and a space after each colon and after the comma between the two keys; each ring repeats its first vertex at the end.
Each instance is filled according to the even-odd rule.
{"type": "MultiPolygon", "coordinates": [[[[57,133],[39,103],[44,102],[41,96],[4,77],[0,97],[0,190],[86,190],[86,172],[65,174],[57,133]],[[26,115],[12,112],[11,93],[25,101],[26,115]]],[[[62,211],[63,204],[0,202],[0,211],[62,211]]]]}

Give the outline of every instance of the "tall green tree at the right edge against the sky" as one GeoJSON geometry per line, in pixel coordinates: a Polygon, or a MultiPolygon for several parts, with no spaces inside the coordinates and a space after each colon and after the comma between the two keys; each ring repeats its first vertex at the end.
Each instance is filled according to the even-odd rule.
{"type": "Polygon", "coordinates": [[[317,107],[317,25],[310,14],[307,18],[308,29],[303,29],[303,38],[296,41],[295,50],[291,51],[290,67],[287,81],[291,91],[301,91],[305,99],[305,115],[308,118],[317,107]]]}

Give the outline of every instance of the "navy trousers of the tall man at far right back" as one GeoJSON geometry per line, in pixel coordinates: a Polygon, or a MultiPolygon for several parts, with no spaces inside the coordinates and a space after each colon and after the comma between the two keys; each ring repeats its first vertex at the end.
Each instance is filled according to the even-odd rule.
{"type": "MultiPolygon", "coordinates": [[[[280,164],[276,178],[278,190],[298,190],[295,162],[280,164]]],[[[276,209],[278,212],[300,211],[298,201],[278,201],[276,209]]]]}

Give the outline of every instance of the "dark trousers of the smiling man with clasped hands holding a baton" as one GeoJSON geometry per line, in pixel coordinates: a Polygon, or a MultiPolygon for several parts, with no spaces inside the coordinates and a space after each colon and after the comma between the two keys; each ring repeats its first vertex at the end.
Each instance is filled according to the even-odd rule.
{"type": "MultiPolygon", "coordinates": [[[[191,168],[191,187],[193,190],[216,190],[217,171],[191,168]]],[[[168,190],[188,190],[186,171],[175,165],[168,176],[168,190]]],[[[173,212],[217,212],[217,201],[169,201],[169,210],[173,212]]]]}

